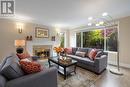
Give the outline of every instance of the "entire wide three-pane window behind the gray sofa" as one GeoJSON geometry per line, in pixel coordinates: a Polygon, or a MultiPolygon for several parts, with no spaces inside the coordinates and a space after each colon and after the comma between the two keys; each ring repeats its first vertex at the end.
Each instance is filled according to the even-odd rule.
{"type": "Polygon", "coordinates": [[[117,34],[116,28],[95,29],[76,33],[76,46],[104,49],[106,51],[117,51],[117,34]],[[81,44],[81,40],[82,44],[81,44]]]}

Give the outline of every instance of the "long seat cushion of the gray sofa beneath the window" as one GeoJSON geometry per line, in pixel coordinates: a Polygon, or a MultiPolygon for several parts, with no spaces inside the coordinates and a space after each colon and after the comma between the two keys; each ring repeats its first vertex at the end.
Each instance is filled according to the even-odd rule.
{"type": "Polygon", "coordinates": [[[94,66],[94,61],[90,60],[87,57],[79,57],[79,56],[76,56],[76,55],[67,55],[67,56],[77,60],[79,63],[84,63],[86,65],[94,66]]]}

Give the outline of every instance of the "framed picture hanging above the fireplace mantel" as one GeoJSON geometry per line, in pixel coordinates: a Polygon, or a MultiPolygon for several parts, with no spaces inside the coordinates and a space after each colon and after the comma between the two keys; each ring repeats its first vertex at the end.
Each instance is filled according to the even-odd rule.
{"type": "Polygon", "coordinates": [[[35,37],[36,38],[48,38],[49,30],[45,28],[36,27],[35,28],[35,37]]]}

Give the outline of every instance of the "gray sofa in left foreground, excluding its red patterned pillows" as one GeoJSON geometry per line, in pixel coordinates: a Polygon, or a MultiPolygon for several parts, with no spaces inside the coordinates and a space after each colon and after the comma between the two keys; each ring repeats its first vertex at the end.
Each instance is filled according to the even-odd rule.
{"type": "Polygon", "coordinates": [[[45,69],[41,72],[35,73],[35,74],[20,74],[22,71],[18,68],[18,61],[16,55],[10,55],[6,57],[3,62],[0,65],[0,87],[57,87],[57,69],[56,68],[50,68],[45,69]],[[8,69],[3,69],[3,67],[7,67],[9,64],[11,68],[17,69],[17,74],[21,75],[18,77],[16,74],[14,74],[14,77],[18,77],[15,79],[11,79],[13,77],[10,76],[10,73],[13,72],[10,70],[10,67],[8,69]],[[2,72],[6,72],[8,74],[8,77],[6,74],[3,74],[2,72]],[[8,72],[7,72],[8,71],[8,72]],[[10,77],[10,78],[9,78],[10,77]]]}

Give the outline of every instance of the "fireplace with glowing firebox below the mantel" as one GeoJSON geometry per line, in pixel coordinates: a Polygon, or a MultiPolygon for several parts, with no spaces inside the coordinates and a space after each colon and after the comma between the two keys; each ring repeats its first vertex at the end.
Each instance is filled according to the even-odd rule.
{"type": "Polygon", "coordinates": [[[33,46],[33,55],[39,57],[50,57],[51,54],[51,45],[34,45],[33,46]]]}

